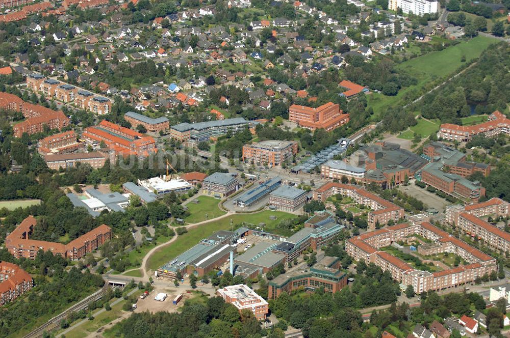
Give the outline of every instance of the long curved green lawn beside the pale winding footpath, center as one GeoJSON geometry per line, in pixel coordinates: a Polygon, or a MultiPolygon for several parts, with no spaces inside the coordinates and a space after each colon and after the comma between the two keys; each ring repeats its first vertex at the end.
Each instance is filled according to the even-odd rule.
{"type": "Polygon", "coordinates": [[[151,270],[158,269],[166,262],[179,256],[181,253],[197,244],[202,238],[207,238],[219,230],[237,229],[239,228],[237,224],[242,222],[249,222],[255,226],[258,226],[260,222],[264,222],[266,223],[266,227],[264,227],[264,229],[271,232],[279,221],[293,217],[295,217],[295,215],[286,212],[266,210],[254,214],[232,215],[231,217],[225,217],[204,224],[198,228],[188,230],[188,233],[179,236],[179,238],[177,238],[172,244],[164,246],[154,252],[154,254],[149,258],[148,268],[151,270]],[[277,216],[277,219],[269,219],[270,215],[277,216]],[[231,220],[234,227],[231,225],[231,220]]]}

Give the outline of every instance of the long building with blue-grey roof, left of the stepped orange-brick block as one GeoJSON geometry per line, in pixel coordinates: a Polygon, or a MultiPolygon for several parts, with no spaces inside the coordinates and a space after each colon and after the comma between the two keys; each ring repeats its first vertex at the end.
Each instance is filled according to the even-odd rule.
{"type": "Polygon", "coordinates": [[[211,137],[218,137],[227,132],[236,134],[248,128],[248,121],[243,118],[216,120],[198,123],[180,123],[170,127],[170,137],[181,142],[197,145],[211,137]]]}

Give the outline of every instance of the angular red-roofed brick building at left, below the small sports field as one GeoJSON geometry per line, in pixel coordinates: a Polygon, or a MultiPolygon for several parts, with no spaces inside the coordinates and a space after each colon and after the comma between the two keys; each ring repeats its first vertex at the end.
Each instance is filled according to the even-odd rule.
{"type": "Polygon", "coordinates": [[[112,230],[105,224],[94,230],[78,237],[68,244],[37,241],[30,239],[34,231],[37,220],[34,216],[28,216],[23,219],[19,226],[7,235],[5,244],[9,252],[15,258],[27,258],[34,260],[37,257],[37,251],[51,251],[54,255],[60,255],[71,260],[78,260],[86,253],[95,250],[99,245],[109,241],[112,238],[112,230]]]}

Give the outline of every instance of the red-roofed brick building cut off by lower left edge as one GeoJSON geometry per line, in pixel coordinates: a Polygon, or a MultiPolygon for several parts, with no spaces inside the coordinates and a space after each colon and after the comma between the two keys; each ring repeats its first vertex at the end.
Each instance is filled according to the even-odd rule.
{"type": "Polygon", "coordinates": [[[16,299],[34,286],[32,277],[16,264],[0,261],[0,306],[16,299]]]}

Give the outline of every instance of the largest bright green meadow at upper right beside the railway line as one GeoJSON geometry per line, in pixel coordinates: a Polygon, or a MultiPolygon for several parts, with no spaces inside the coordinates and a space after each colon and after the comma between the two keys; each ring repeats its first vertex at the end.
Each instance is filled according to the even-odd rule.
{"type": "Polygon", "coordinates": [[[405,70],[418,79],[415,86],[404,88],[396,96],[385,96],[380,93],[368,95],[368,104],[374,109],[374,119],[379,119],[382,110],[398,104],[407,93],[421,92],[422,89],[437,78],[446,78],[462,66],[461,58],[466,57],[466,62],[478,58],[481,52],[491,43],[497,40],[484,36],[463,41],[455,46],[450,46],[440,51],[434,51],[402,62],[396,66],[397,70],[405,70]]]}

